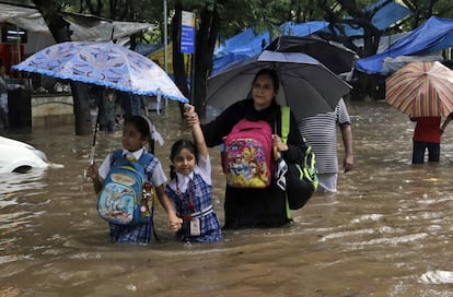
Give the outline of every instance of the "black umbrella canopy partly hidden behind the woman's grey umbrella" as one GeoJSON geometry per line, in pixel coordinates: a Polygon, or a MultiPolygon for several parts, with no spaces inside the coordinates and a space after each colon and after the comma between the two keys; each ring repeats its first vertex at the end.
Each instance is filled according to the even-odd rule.
{"type": "Polygon", "coordinates": [[[306,54],[322,62],[335,74],[351,71],[356,59],[358,59],[357,54],[344,45],[327,41],[315,36],[282,35],[274,39],[266,49],[306,54]]]}

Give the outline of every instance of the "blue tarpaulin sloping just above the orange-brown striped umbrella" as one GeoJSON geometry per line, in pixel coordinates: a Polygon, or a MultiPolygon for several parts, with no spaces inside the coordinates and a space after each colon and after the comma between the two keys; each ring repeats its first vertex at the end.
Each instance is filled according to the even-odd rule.
{"type": "Polygon", "coordinates": [[[365,73],[384,73],[385,58],[432,55],[453,46],[453,19],[431,16],[421,26],[400,38],[385,51],[356,62],[356,69],[365,73]]]}

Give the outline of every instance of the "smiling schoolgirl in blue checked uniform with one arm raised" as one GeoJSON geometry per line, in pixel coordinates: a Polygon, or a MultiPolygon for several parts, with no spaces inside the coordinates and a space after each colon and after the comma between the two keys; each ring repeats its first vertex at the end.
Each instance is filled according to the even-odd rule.
{"type": "Polygon", "coordinates": [[[171,182],[166,195],[173,201],[183,226],[176,233],[181,241],[206,242],[222,238],[212,206],[211,163],[199,121],[191,126],[194,142],[176,141],[171,151],[171,182]]]}

